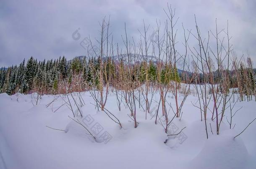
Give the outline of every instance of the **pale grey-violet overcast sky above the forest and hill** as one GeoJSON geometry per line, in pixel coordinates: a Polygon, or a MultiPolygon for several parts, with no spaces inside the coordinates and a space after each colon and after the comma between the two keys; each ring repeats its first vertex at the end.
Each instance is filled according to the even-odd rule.
{"type": "Polygon", "coordinates": [[[164,26],[167,2],[180,17],[177,29],[183,23],[195,30],[194,14],[204,33],[215,29],[215,18],[220,30],[228,20],[237,55],[249,53],[255,67],[255,0],[0,0],[0,67],[19,64],[30,56],[43,60],[85,55],[79,43],[89,35],[98,37],[99,21],[105,15],[110,15],[116,43],[122,43],[124,23],[129,38],[138,38],[143,19],[150,31],[156,28],[156,19],[164,26]],[[78,28],[81,38],[74,40],[72,34],[78,28]]]}

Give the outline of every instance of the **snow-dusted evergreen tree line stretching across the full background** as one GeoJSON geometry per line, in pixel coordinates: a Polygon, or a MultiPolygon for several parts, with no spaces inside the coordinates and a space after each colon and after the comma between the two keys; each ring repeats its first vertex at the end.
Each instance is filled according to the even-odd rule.
{"type": "MultiPolygon", "coordinates": [[[[125,79],[122,76],[128,73],[125,72],[128,71],[128,65],[122,59],[116,61],[110,57],[105,58],[102,62],[106,76],[102,77],[101,83],[101,73],[99,72],[101,59],[99,57],[88,59],[86,57],[74,58],[71,61],[67,61],[63,56],[57,60],[51,59],[39,62],[37,59],[31,57],[26,63],[24,59],[19,66],[15,65],[0,69],[0,93],[8,93],[9,95],[17,92],[60,94],[71,91],[85,91],[92,87],[102,90],[106,81],[111,81],[111,86],[120,89],[123,86],[120,81],[122,78],[125,79]],[[119,82],[119,85],[117,82],[119,82]]],[[[203,83],[204,77],[202,73],[198,74],[198,78],[194,78],[191,72],[179,73],[178,69],[171,63],[160,63],[162,64],[160,67],[161,70],[157,70],[159,68],[157,62],[149,61],[147,64],[147,73],[145,72],[146,61],[133,64],[131,77],[132,81],[136,83],[136,86],[142,85],[145,82],[146,75],[151,85],[156,83],[167,85],[169,81],[182,81],[183,83],[193,84],[203,83]]],[[[240,92],[241,94],[254,95],[256,89],[256,69],[250,68],[250,64],[246,66],[243,63],[240,63],[237,67],[237,69],[233,69],[227,73],[230,79],[229,88],[238,88],[236,92],[240,92]]],[[[222,75],[217,76],[217,72],[214,72],[215,83],[222,81],[218,79],[219,77],[222,77],[222,75]]],[[[211,83],[210,81],[208,82],[211,83]]],[[[222,92],[224,90],[223,88],[223,84],[219,83],[218,90],[222,92]]]]}

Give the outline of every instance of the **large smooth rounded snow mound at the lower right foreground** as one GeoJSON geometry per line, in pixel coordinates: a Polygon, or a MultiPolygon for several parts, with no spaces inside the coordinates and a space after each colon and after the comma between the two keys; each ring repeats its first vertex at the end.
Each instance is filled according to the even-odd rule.
{"type": "Polygon", "coordinates": [[[243,168],[248,159],[248,151],[242,139],[233,138],[234,134],[230,130],[210,137],[201,152],[191,161],[190,166],[204,169],[243,168]]]}

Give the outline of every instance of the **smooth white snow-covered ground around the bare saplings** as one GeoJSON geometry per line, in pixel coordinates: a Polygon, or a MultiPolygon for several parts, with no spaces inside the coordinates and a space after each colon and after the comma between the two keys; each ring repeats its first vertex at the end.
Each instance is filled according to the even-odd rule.
{"type": "MultiPolygon", "coordinates": [[[[73,96],[78,101],[78,93],[73,96]]],[[[216,121],[211,120],[212,114],[208,111],[209,139],[206,139],[201,113],[192,105],[198,104],[195,96],[189,95],[185,101],[181,120],[175,118],[170,124],[168,134],[177,134],[186,127],[177,136],[167,136],[161,119],[154,124],[159,93],[153,97],[147,119],[143,108],[136,105],[139,124],[134,128],[129,109],[121,103],[119,111],[115,93],[110,92],[106,108],[120,120],[122,129],[103,111],[97,112],[89,92],[81,92],[81,96],[85,102],[80,108],[83,117],[74,119],[86,126],[96,141],[83,126],[68,117],[73,118],[73,114],[65,104],[66,96],[44,95],[36,105],[36,93],[0,94],[0,169],[256,168],[256,122],[233,139],[256,117],[255,101],[235,105],[234,110],[243,108],[233,117],[235,128],[231,130],[226,120],[230,118],[227,109],[219,135],[216,121]]],[[[181,99],[179,97],[179,102],[181,99]]],[[[167,101],[175,109],[171,93],[167,94],[167,101]]],[[[74,101],[71,102],[75,113],[80,114],[74,101]]],[[[167,105],[167,111],[169,108],[167,105]]],[[[213,102],[209,108],[213,108],[213,102]]],[[[159,110],[161,115],[161,108],[159,110]]],[[[170,109],[169,119],[173,115],[170,109]]]]}

